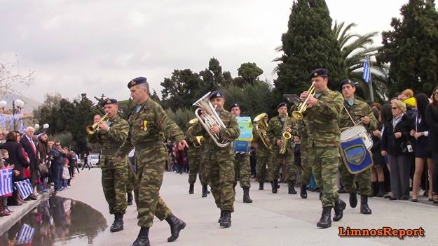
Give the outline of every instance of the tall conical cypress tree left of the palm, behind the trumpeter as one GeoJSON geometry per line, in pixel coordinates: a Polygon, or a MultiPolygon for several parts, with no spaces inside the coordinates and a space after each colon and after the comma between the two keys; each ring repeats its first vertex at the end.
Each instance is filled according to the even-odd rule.
{"type": "Polygon", "coordinates": [[[336,89],[347,76],[341,49],[331,30],[331,17],[324,0],[298,0],[292,5],[288,30],[282,34],[282,56],[274,81],[280,94],[300,94],[310,86],[309,73],[329,70],[329,87],[336,89]]]}

